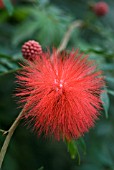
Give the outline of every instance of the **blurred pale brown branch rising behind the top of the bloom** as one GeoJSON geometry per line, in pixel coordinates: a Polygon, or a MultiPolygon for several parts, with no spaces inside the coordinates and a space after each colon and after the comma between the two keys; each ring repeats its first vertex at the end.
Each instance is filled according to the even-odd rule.
{"type": "Polygon", "coordinates": [[[60,45],[58,47],[57,52],[61,52],[66,48],[66,46],[68,44],[68,41],[69,41],[69,39],[71,37],[72,31],[75,28],[82,27],[83,25],[84,25],[84,22],[81,21],[81,20],[76,20],[76,21],[71,23],[71,25],[69,26],[67,32],[65,33],[65,35],[64,35],[64,37],[63,37],[63,39],[62,39],[62,41],[61,41],[61,43],[60,43],[60,45]]]}

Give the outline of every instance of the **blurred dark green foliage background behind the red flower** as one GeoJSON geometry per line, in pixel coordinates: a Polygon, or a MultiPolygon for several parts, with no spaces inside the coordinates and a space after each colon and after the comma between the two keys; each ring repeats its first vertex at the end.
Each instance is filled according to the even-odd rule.
{"type": "MultiPolygon", "coordinates": [[[[91,0],[4,0],[0,6],[0,129],[7,130],[20,109],[16,105],[15,73],[22,60],[21,46],[34,39],[43,49],[58,47],[70,23],[82,19],[67,49],[80,48],[104,71],[104,110],[95,128],[69,150],[62,141],[38,138],[22,120],[3,164],[3,170],[114,170],[114,1],[107,0],[109,13],[97,17],[91,0]],[[86,145],[86,149],[85,149],[86,145]],[[75,157],[75,159],[72,159],[75,157]]],[[[0,147],[5,137],[0,133],[0,147]]],[[[74,141],[73,141],[74,142],[74,141]]]]}

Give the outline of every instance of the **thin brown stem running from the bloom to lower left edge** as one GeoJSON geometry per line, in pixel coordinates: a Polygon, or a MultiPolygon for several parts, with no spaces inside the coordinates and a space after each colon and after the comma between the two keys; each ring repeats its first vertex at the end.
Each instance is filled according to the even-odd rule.
{"type": "Polygon", "coordinates": [[[7,133],[7,136],[6,136],[4,144],[3,144],[2,148],[1,148],[1,151],[0,151],[0,169],[2,167],[2,163],[3,163],[4,157],[5,157],[9,142],[11,140],[11,137],[12,137],[16,127],[18,126],[20,118],[21,118],[23,113],[24,113],[24,109],[20,112],[20,114],[18,115],[18,117],[16,118],[16,120],[14,121],[12,126],[10,127],[10,129],[8,131],[2,131],[3,134],[7,133]]]}

